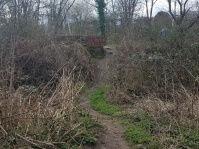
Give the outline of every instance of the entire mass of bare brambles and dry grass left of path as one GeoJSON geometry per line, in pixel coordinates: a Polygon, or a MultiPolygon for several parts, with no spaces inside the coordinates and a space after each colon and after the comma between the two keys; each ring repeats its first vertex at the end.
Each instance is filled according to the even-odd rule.
{"type": "MultiPolygon", "coordinates": [[[[78,43],[18,39],[13,92],[8,93],[10,55],[1,51],[0,148],[70,148],[95,143],[95,122],[78,106],[94,74],[78,43]]],[[[9,47],[7,47],[9,49],[9,47]]]]}

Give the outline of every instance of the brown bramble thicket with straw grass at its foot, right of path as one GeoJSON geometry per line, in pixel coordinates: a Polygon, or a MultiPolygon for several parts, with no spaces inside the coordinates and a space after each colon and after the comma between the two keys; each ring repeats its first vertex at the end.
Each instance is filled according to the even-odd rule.
{"type": "Polygon", "coordinates": [[[110,99],[181,120],[198,117],[198,45],[195,36],[190,41],[191,34],[174,28],[164,38],[124,39],[110,65],[114,86],[110,99]]]}

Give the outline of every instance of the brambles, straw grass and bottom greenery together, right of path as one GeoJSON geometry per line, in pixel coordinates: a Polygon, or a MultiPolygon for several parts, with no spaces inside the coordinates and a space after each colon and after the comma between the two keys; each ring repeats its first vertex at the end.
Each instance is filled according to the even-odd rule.
{"type": "Polygon", "coordinates": [[[133,148],[139,148],[143,129],[151,135],[148,143],[139,143],[143,148],[199,147],[198,46],[173,40],[124,39],[109,65],[109,99],[123,104],[125,135],[133,148]]]}

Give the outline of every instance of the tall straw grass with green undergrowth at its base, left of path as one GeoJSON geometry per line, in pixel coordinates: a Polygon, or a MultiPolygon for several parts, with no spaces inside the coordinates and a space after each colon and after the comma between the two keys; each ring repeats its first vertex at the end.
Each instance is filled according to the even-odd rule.
{"type": "Polygon", "coordinates": [[[75,84],[70,79],[70,76],[63,76],[53,95],[46,97],[46,100],[37,92],[32,94],[35,95],[33,98],[24,98],[18,91],[14,92],[15,100],[0,99],[0,105],[5,107],[1,111],[6,114],[1,119],[3,131],[0,130],[0,148],[39,146],[38,148],[72,149],[94,145],[97,142],[95,137],[102,128],[91,116],[77,108],[76,99],[79,98],[84,82],[75,84]],[[31,102],[35,97],[38,97],[37,102],[42,105],[41,108],[36,101],[31,102]],[[56,105],[52,104],[54,102],[56,105]],[[20,103],[20,106],[16,103],[20,103]],[[21,115],[23,111],[27,112],[21,115]],[[32,140],[36,145],[30,143],[32,140]]]}

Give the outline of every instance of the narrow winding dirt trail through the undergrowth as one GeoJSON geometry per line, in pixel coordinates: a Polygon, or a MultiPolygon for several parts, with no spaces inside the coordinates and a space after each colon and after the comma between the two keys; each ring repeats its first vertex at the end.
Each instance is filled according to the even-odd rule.
{"type": "MultiPolygon", "coordinates": [[[[93,87],[87,91],[88,94],[108,83],[107,63],[114,57],[115,51],[114,49],[106,47],[105,50],[106,56],[102,60],[97,60],[96,81],[93,87]]],[[[80,104],[105,128],[103,134],[98,138],[98,143],[93,147],[86,147],[85,149],[130,149],[128,143],[123,138],[124,128],[119,122],[110,116],[100,114],[93,110],[88,97],[84,95],[80,98],[80,104]]]]}

